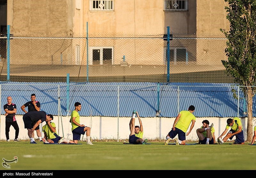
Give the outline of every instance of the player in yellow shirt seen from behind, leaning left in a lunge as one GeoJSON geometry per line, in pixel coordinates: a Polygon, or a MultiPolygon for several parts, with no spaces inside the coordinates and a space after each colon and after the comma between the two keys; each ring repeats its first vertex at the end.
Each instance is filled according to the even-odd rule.
{"type": "Polygon", "coordinates": [[[195,111],[195,106],[190,105],[188,107],[188,111],[180,111],[176,119],[174,120],[174,123],[172,125],[172,130],[166,135],[166,141],[165,145],[168,145],[170,142],[170,139],[174,138],[178,134],[178,138],[175,138],[176,145],[185,145],[186,144],[186,136],[189,135],[191,130],[193,129],[196,117],[193,115],[193,112],[195,111]],[[190,123],[192,122],[189,131],[188,127],[190,123]]]}

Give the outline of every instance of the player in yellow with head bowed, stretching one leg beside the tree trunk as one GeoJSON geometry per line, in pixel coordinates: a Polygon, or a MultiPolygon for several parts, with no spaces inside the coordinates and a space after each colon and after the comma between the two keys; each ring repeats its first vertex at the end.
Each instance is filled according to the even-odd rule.
{"type": "Polygon", "coordinates": [[[232,138],[236,136],[236,143],[237,144],[244,144],[244,132],[243,132],[243,126],[241,123],[241,120],[238,117],[234,117],[233,119],[228,118],[227,119],[227,126],[224,130],[224,132],[218,137],[218,143],[222,144],[228,140],[232,140],[232,138]],[[223,138],[222,136],[225,135],[229,129],[228,134],[223,138]]]}

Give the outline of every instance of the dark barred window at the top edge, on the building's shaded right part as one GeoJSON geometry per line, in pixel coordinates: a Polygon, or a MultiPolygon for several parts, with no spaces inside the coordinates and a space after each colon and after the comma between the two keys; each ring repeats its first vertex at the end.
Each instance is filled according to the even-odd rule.
{"type": "Polygon", "coordinates": [[[164,0],[164,11],[187,11],[188,0],[164,0]]]}

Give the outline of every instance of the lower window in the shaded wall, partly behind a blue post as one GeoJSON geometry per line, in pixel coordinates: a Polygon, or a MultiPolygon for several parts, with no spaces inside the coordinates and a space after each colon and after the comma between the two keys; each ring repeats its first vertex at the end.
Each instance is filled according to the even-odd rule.
{"type": "MultiPolygon", "coordinates": [[[[165,48],[164,63],[167,61],[167,48],[165,48]]],[[[188,51],[186,48],[170,48],[170,62],[188,62],[188,51]]]]}

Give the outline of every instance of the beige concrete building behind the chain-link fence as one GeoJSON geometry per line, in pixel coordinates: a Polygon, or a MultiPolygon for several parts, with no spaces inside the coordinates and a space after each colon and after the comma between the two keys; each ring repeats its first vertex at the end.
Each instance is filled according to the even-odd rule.
{"type": "MultiPolygon", "coordinates": [[[[225,5],[224,0],[7,0],[10,64],[140,65],[166,74],[163,35],[170,27],[170,68],[177,69],[172,73],[224,70],[225,5]]],[[[129,75],[123,69],[122,75],[129,75]]],[[[140,72],[153,75],[147,70],[140,72]]]]}

